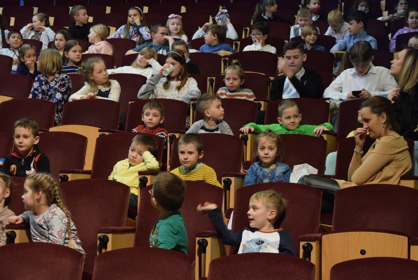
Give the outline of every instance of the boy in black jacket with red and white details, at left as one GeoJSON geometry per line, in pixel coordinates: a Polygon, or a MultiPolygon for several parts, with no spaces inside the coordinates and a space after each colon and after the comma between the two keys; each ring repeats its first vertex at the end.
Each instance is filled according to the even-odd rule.
{"type": "Polygon", "coordinates": [[[14,124],[17,150],[8,155],[1,172],[10,176],[26,177],[36,172],[50,172],[48,157],[39,151],[38,124],[31,118],[22,118],[14,124]]]}

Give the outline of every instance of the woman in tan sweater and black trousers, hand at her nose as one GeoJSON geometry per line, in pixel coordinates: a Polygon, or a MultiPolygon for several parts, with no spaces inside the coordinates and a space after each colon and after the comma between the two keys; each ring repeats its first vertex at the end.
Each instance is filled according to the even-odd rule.
{"type": "Polygon", "coordinates": [[[364,125],[354,132],[356,145],[348,168],[348,181],[307,175],[298,182],[323,191],[323,212],[332,213],[334,193],[339,189],[363,184],[398,185],[400,177],[412,168],[408,144],[397,133],[401,128],[400,100],[373,96],[363,103],[360,114],[364,125]],[[376,141],[363,155],[367,132],[376,141]]]}

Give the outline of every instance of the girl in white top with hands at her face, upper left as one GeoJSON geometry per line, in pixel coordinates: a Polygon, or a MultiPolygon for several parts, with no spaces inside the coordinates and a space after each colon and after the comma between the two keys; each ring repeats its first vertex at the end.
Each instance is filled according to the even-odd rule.
{"type": "Polygon", "coordinates": [[[55,36],[55,32],[50,28],[50,19],[45,13],[34,14],[32,23],[27,24],[20,32],[24,39],[41,41],[42,50],[48,48],[48,43],[53,41],[55,36]]]}

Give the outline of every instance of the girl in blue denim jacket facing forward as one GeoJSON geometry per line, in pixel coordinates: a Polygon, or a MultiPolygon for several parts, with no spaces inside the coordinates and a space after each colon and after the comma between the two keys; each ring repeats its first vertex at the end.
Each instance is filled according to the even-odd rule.
{"type": "Polygon", "coordinates": [[[245,174],[243,186],[267,183],[289,182],[290,168],[281,163],[281,140],[279,135],[263,132],[254,141],[254,164],[245,174]]]}

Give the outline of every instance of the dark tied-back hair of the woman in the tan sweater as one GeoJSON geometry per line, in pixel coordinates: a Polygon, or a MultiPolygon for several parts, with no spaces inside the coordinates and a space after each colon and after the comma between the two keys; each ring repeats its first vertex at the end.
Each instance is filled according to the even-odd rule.
{"type": "Polygon", "coordinates": [[[393,97],[389,100],[380,95],[372,96],[366,99],[360,110],[363,108],[369,108],[372,113],[379,116],[386,113],[386,127],[396,132],[400,131],[404,111],[399,98],[393,97]]]}

